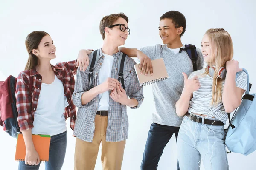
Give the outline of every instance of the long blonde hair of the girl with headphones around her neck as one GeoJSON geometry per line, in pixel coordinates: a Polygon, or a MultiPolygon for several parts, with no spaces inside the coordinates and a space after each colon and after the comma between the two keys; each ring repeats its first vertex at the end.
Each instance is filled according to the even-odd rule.
{"type": "MultiPolygon", "coordinates": [[[[214,76],[212,77],[212,100],[210,105],[217,105],[221,101],[221,79],[218,77],[218,70],[226,67],[226,62],[233,58],[233,43],[227,31],[223,28],[208,29],[205,33],[209,37],[212,61],[207,63],[210,67],[215,66],[214,76]]],[[[205,68],[209,74],[208,68],[205,68]]]]}

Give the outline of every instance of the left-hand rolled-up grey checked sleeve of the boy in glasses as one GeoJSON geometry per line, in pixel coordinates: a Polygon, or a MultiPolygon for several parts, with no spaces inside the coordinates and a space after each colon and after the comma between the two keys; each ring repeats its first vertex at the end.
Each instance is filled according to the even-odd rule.
{"type": "Polygon", "coordinates": [[[82,105],[81,97],[85,91],[88,89],[89,84],[89,75],[88,71],[80,71],[80,69],[77,69],[76,74],[76,81],[75,81],[75,90],[72,94],[72,100],[73,103],[76,105],[76,107],[81,108],[83,106],[91,105],[92,101],[89,103],[82,105]]]}

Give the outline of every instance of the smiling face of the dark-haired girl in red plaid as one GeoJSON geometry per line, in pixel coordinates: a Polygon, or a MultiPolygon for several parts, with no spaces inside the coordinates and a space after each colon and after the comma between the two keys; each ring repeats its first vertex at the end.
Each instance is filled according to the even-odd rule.
{"type": "Polygon", "coordinates": [[[51,36],[46,35],[42,38],[37,49],[33,49],[32,53],[39,59],[54,59],[56,58],[56,47],[53,45],[51,36]]]}

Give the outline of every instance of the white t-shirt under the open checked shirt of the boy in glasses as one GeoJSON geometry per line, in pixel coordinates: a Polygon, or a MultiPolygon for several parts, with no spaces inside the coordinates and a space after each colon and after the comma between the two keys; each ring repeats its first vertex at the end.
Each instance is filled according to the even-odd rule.
{"type": "MultiPolygon", "coordinates": [[[[111,77],[111,70],[113,65],[114,57],[104,54],[104,60],[101,68],[99,69],[99,84],[106,81],[108,77],[111,77]]],[[[99,108],[98,111],[108,111],[109,108],[109,91],[99,94],[99,108]]]]}

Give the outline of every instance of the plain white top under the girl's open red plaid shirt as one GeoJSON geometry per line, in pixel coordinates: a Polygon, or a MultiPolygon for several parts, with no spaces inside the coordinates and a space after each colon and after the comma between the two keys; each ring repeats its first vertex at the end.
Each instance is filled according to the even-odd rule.
{"type": "Polygon", "coordinates": [[[32,134],[57,135],[67,130],[64,110],[69,104],[61,80],[55,75],[52,84],[42,83],[34,115],[32,134]]]}

